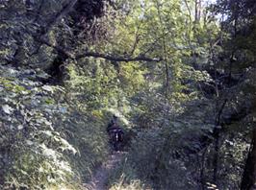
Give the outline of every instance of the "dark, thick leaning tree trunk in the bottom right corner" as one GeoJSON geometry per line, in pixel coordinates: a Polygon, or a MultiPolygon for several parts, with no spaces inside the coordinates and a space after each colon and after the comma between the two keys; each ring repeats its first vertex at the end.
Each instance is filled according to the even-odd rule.
{"type": "Polygon", "coordinates": [[[247,155],[241,182],[241,190],[253,189],[256,189],[256,128],[253,131],[250,151],[247,155]]]}

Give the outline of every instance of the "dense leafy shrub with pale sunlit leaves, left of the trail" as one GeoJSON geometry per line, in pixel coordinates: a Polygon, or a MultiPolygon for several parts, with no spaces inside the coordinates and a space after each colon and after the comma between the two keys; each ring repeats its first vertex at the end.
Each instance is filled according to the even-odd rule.
{"type": "Polygon", "coordinates": [[[65,101],[40,70],[1,66],[0,176],[3,188],[77,188],[105,154],[103,118],[65,101]]]}

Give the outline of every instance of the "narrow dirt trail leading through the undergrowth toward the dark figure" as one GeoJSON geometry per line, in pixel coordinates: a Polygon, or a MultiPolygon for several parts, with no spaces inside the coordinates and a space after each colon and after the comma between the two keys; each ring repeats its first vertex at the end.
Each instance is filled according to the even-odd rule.
{"type": "Polygon", "coordinates": [[[116,164],[120,162],[125,152],[115,152],[110,154],[106,162],[96,169],[89,183],[85,183],[85,190],[107,190],[107,180],[111,171],[115,168],[116,164]]]}

